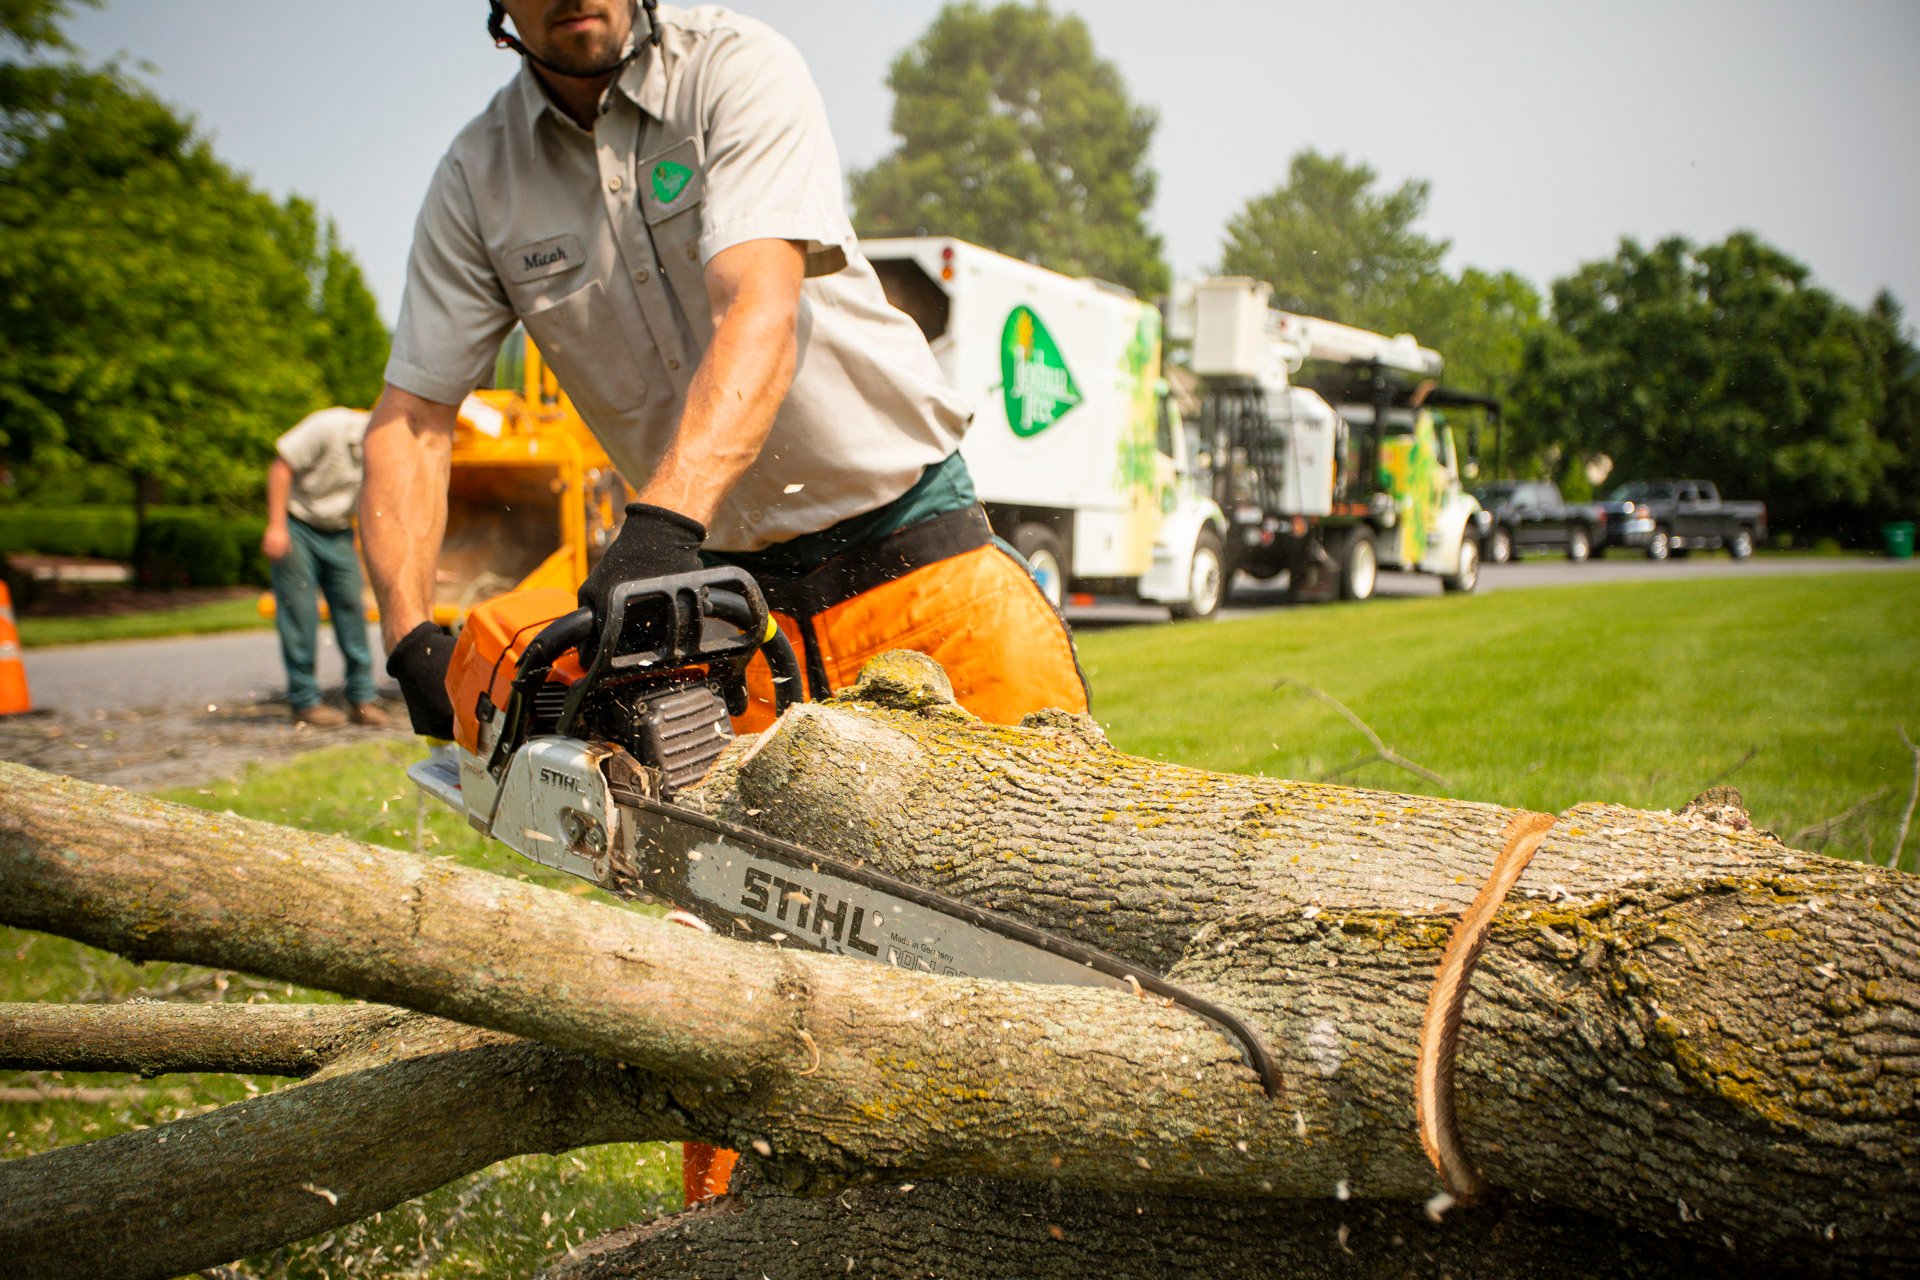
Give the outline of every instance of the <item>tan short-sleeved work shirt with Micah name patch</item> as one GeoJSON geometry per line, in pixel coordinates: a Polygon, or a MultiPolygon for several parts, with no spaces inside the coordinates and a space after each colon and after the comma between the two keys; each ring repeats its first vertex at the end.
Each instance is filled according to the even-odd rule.
{"type": "Polygon", "coordinates": [[[518,319],[641,486],[712,340],[705,265],[804,242],[793,390],[707,541],[758,551],[893,501],[970,411],[860,253],[799,52],[716,6],[660,6],[659,25],[591,132],[526,65],[461,130],[420,209],[386,380],[457,405],[518,319]]]}

